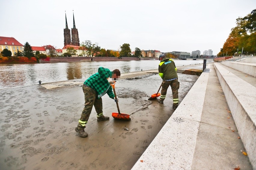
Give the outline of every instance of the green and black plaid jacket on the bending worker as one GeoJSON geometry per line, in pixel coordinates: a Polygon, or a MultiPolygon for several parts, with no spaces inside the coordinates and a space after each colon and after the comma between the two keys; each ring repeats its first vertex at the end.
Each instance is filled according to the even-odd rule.
{"type": "MultiPolygon", "coordinates": [[[[109,85],[107,78],[111,77],[112,72],[104,67],[99,67],[98,72],[91,75],[84,84],[94,89],[97,95],[108,94],[110,98],[114,98],[112,86],[109,85]],[[107,90],[108,89],[108,90],[107,90]],[[106,91],[107,90],[107,91],[106,91]],[[106,91],[106,92],[105,92],[106,91]],[[103,93],[105,92],[105,93],[103,93]],[[103,93],[103,94],[102,94],[103,93]]],[[[99,96],[98,96],[99,98],[99,96]]]]}

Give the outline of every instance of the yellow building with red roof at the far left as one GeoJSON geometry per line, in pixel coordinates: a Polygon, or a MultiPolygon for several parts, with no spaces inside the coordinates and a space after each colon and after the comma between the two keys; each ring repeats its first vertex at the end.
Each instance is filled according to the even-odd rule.
{"type": "Polygon", "coordinates": [[[14,37],[0,37],[0,52],[5,48],[11,51],[12,56],[14,56],[14,53],[17,53],[18,50],[20,52],[23,51],[23,45],[14,37]]]}

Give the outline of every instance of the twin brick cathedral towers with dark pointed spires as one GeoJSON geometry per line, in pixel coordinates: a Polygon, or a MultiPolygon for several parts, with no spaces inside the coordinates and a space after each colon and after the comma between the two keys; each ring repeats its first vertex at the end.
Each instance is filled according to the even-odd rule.
{"type": "Polygon", "coordinates": [[[74,11],[73,11],[73,28],[71,29],[72,41],[71,41],[71,36],[70,36],[70,29],[68,28],[66,12],[65,12],[65,17],[66,17],[66,28],[64,29],[64,46],[66,46],[66,45],[80,46],[78,30],[77,30],[77,28],[75,28],[74,11]]]}

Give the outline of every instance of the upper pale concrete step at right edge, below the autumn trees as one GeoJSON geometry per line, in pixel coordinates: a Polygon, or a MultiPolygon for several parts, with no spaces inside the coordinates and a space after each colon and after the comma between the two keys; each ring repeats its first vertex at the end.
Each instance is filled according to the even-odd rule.
{"type": "Polygon", "coordinates": [[[221,64],[256,77],[256,63],[224,61],[221,64]]]}

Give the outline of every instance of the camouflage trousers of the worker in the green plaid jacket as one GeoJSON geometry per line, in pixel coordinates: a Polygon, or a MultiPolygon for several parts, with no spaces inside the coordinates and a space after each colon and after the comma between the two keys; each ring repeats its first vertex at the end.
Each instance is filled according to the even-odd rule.
{"type": "Polygon", "coordinates": [[[96,92],[86,86],[83,85],[83,92],[84,92],[84,109],[81,114],[81,118],[78,121],[78,129],[84,129],[85,125],[87,124],[87,121],[90,117],[91,111],[93,109],[93,106],[96,110],[97,115],[102,115],[102,98],[98,98],[96,92]]]}

